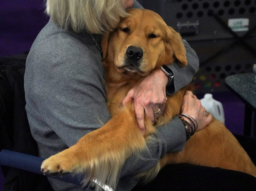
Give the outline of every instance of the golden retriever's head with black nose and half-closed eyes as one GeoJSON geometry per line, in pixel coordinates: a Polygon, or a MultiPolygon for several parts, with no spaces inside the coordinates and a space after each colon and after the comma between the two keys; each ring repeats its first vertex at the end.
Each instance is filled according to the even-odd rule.
{"type": "Polygon", "coordinates": [[[146,9],[130,9],[128,13],[115,31],[103,36],[103,60],[112,62],[117,72],[142,76],[175,58],[181,66],[187,65],[180,35],[157,13],[146,9]]]}

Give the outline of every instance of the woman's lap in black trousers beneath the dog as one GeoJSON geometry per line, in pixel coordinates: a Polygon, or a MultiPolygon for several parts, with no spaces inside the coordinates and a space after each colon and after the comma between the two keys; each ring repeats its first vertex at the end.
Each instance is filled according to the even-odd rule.
{"type": "MultiPolygon", "coordinates": [[[[256,162],[256,139],[237,136],[240,144],[256,162]]],[[[139,184],[132,191],[255,191],[256,178],[238,171],[189,164],[164,167],[147,184],[139,184]]]]}

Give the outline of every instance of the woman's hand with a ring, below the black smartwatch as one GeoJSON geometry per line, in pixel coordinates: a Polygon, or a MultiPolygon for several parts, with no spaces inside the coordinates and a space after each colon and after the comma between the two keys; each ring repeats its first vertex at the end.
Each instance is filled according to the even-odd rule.
{"type": "Polygon", "coordinates": [[[144,112],[154,124],[154,120],[160,114],[154,113],[159,108],[163,113],[166,103],[166,85],[168,77],[161,69],[154,70],[142,81],[134,86],[125,96],[122,104],[125,105],[131,99],[134,99],[134,108],[138,125],[141,133],[145,133],[144,112]]]}

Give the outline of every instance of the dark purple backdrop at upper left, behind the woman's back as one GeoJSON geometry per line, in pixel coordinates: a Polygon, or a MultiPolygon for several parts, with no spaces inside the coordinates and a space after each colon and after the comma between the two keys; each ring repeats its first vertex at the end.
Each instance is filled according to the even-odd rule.
{"type": "Polygon", "coordinates": [[[45,0],[0,0],[0,56],[28,51],[49,18],[45,0]]]}

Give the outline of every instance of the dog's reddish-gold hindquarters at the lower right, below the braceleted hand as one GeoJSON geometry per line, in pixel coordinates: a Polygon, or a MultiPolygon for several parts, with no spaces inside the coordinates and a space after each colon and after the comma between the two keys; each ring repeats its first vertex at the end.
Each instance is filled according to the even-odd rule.
{"type": "Polygon", "coordinates": [[[248,154],[224,124],[216,119],[196,132],[181,152],[168,153],[160,161],[161,167],[175,163],[220,167],[256,177],[256,167],[248,154]]]}

